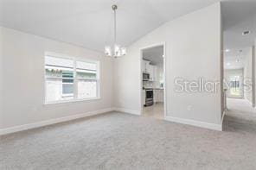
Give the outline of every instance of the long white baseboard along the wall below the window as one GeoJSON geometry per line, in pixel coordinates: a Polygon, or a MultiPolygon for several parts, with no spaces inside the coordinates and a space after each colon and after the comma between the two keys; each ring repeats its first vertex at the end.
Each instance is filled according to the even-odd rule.
{"type": "Polygon", "coordinates": [[[23,125],[20,125],[20,126],[0,129],[0,135],[6,135],[6,134],[26,130],[26,129],[35,129],[35,128],[39,128],[39,127],[42,127],[42,126],[47,126],[47,125],[54,124],[54,123],[67,122],[67,121],[71,121],[71,120],[86,117],[86,116],[99,115],[101,113],[106,113],[106,112],[109,112],[109,111],[112,111],[112,110],[113,110],[113,108],[108,108],[108,109],[103,109],[103,110],[95,110],[95,111],[88,111],[86,113],[77,114],[77,115],[74,115],[74,116],[64,116],[64,117],[61,117],[61,118],[50,119],[50,120],[47,120],[47,121],[23,124],[23,125]]]}

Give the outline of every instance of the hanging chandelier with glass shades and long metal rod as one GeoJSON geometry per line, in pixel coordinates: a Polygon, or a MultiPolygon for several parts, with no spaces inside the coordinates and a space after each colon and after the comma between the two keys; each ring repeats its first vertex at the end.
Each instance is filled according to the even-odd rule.
{"type": "Polygon", "coordinates": [[[112,5],[112,10],[114,12],[114,44],[113,46],[106,46],[105,47],[105,54],[106,56],[110,57],[120,57],[126,54],[126,48],[120,47],[117,44],[117,16],[116,16],[116,10],[118,9],[117,5],[112,5]]]}

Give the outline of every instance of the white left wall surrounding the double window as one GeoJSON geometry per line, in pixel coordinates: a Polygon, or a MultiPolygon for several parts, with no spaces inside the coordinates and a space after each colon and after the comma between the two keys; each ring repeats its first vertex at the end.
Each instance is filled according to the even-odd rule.
{"type": "MultiPolygon", "coordinates": [[[[60,41],[0,28],[3,41],[3,112],[0,128],[112,108],[112,59],[60,41]],[[67,54],[100,61],[99,100],[44,105],[44,54],[67,54]]],[[[1,58],[2,59],[2,58],[1,58]]],[[[2,63],[2,62],[1,62],[2,63]]],[[[2,70],[1,70],[2,72],[2,70]]],[[[1,107],[2,108],[2,107],[1,107]]]]}

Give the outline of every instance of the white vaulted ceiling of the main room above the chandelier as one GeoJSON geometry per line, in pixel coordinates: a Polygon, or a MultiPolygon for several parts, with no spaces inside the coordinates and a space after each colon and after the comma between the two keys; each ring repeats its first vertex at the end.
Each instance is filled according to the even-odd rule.
{"type": "Polygon", "coordinates": [[[0,0],[0,25],[102,51],[112,43],[118,4],[118,42],[130,45],[163,22],[220,0],[0,0]]]}

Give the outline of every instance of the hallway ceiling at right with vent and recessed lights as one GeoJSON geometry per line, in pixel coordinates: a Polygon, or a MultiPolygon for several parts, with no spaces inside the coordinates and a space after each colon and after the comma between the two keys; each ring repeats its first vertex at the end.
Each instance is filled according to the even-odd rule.
{"type": "Polygon", "coordinates": [[[224,28],[224,68],[244,67],[248,47],[256,40],[256,1],[228,1],[222,3],[224,28]],[[250,35],[242,32],[250,30],[250,35]],[[240,52],[242,50],[242,52],[240,52]]]}

